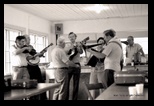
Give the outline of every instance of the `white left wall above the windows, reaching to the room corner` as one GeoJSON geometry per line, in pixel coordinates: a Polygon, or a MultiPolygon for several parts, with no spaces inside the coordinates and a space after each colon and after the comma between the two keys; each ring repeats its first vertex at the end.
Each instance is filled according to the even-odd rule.
{"type": "MultiPolygon", "coordinates": [[[[29,14],[27,12],[20,11],[16,8],[4,4],[4,24],[9,24],[17,27],[23,27],[26,29],[25,33],[28,34],[29,29],[47,34],[49,43],[55,44],[55,35],[53,33],[52,22],[29,14]]],[[[49,48],[49,53],[51,51],[49,48]]],[[[50,55],[49,55],[50,60],[50,55]]]]}

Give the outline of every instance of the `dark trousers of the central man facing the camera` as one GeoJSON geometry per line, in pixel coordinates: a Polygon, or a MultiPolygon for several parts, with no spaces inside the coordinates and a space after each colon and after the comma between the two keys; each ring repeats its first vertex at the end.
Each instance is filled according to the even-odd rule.
{"type": "MultiPolygon", "coordinates": [[[[80,63],[76,63],[79,64],[80,63]]],[[[73,78],[73,86],[72,89],[72,100],[77,100],[78,98],[78,91],[79,91],[79,81],[80,81],[80,72],[81,72],[81,68],[71,68],[69,69],[69,73],[68,73],[68,81],[69,81],[69,86],[70,86],[70,80],[71,78],[73,78]]],[[[70,91],[68,91],[69,94],[70,91]]]]}

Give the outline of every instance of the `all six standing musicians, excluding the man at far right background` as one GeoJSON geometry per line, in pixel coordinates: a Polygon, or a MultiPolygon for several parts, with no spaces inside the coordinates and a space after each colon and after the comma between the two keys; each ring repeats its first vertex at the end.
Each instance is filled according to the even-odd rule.
{"type": "MultiPolygon", "coordinates": [[[[104,36],[97,40],[99,45],[96,50],[85,46],[85,42],[76,42],[77,35],[74,32],[68,34],[71,43],[66,47],[65,38],[63,36],[60,36],[57,39],[57,45],[50,54],[55,69],[55,83],[60,83],[61,86],[55,89],[53,100],[69,100],[71,78],[73,79],[72,100],[78,99],[79,79],[81,73],[80,54],[83,53],[83,50],[90,52],[98,59],[97,64],[92,68],[90,83],[102,83],[104,88],[107,88],[114,83],[114,72],[121,71],[123,49],[121,41],[118,39],[116,32],[113,29],[105,30],[103,35],[104,36]]],[[[35,50],[33,46],[30,45],[29,36],[18,36],[16,37],[15,43],[16,44],[13,45],[11,49],[13,80],[37,79],[38,82],[44,82],[42,80],[39,66],[30,65],[26,60],[27,56],[32,55],[30,52],[35,50]]],[[[42,54],[46,51],[47,50],[42,54]]],[[[36,54],[37,52],[35,51],[33,55],[36,54]]],[[[91,93],[95,98],[95,93],[91,93]]]]}

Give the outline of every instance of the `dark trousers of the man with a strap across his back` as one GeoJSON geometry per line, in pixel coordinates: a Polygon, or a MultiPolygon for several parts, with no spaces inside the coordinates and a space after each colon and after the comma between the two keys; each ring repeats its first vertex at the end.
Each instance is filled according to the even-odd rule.
{"type": "Polygon", "coordinates": [[[114,83],[114,70],[106,69],[105,70],[105,79],[107,82],[107,86],[109,87],[114,83]]]}

